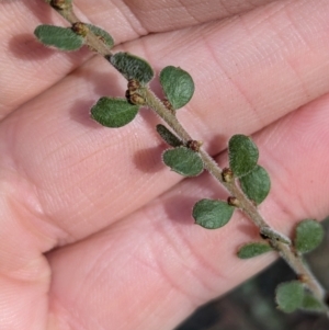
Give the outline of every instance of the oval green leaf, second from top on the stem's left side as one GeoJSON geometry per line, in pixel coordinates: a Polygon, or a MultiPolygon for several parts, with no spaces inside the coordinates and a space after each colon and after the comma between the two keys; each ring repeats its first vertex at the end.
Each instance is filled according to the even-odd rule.
{"type": "Polygon", "coordinates": [[[106,127],[122,127],[135,118],[138,109],[125,99],[101,98],[91,107],[91,117],[106,127]]]}

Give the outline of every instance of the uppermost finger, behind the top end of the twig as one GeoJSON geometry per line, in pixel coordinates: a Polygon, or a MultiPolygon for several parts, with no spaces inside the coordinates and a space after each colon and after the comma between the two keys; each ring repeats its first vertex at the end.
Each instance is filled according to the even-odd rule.
{"type": "MultiPolygon", "coordinates": [[[[79,19],[111,32],[116,44],[149,32],[163,32],[236,14],[271,0],[218,1],[75,1],[79,19]]],[[[67,25],[44,1],[0,2],[0,118],[90,58],[90,52],[63,54],[38,44],[33,31],[39,24],[67,25]]]]}

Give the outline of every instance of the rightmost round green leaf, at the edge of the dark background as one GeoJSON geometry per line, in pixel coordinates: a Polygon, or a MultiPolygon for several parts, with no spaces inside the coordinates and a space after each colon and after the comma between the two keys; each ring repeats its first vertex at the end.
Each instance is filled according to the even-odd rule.
{"type": "Polygon", "coordinates": [[[322,241],[325,231],[322,226],[313,219],[300,221],[296,227],[295,248],[300,253],[307,253],[316,249],[322,241]]]}

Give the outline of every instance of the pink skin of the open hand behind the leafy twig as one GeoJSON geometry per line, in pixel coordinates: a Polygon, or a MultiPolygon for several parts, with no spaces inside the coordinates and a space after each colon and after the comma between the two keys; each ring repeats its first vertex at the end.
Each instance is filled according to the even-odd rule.
{"type": "MultiPolygon", "coordinates": [[[[75,2],[115,52],[191,73],[178,117],[220,166],[231,135],[252,135],[271,226],[290,235],[329,214],[327,0],[75,2]]],[[[0,329],[171,330],[276,257],[236,257],[259,239],[238,212],[218,230],[194,225],[193,204],[226,192],[161,163],[149,110],[120,129],[91,121],[126,81],[88,49],[38,44],[39,24],[67,26],[42,0],[0,1],[0,329]]]]}

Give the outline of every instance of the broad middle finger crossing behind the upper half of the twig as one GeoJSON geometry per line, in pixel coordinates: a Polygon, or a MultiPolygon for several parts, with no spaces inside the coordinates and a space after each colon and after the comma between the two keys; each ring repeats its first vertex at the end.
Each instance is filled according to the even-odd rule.
{"type": "MultiPolygon", "coordinates": [[[[213,155],[225,148],[232,134],[261,129],[329,89],[329,49],[324,43],[329,5],[326,1],[316,9],[305,1],[291,5],[276,10],[271,18],[265,10],[254,30],[248,27],[254,22],[254,13],[243,16],[249,34],[240,21],[222,30],[211,24],[192,31],[190,38],[184,32],[180,37],[185,36],[190,47],[174,47],[166,54],[167,64],[177,62],[195,77],[196,93],[189,111],[181,110],[178,116],[213,155]],[[305,21],[303,14],[309,11],[313,15],[305,21]],[[285,26],[284,35],[273,26],[279,31],[285,26]],[[215,38],[222,43],[215,43],[215,38]],[[207,41],[213,48],[203,47],[207,41]],[[235,65],[229,62],[232,57],[235,65]]],[[[143,46],[159,67],[164,66],[160,49],[167,42],[163,36],[160,41],[150,36],[143,46]]],[[[138,44],[131,49],[143,55],[138,44]]],[[[102,229],[180,180],[160,163],[163,146],[155,136],[156,121],[148,112],[121,129],[90,121],[88,109],[98,96],[124,94],[123,79],[111,76],[116,75],[113,71],[105,73],[103,65],[102,59],[90,62],[22,107],[1,127],[2,155],[9,155],[2,161],[11,169],[8,184],[16,184],[18,179],[12,178],[23,173],[43,206],[38,213],[32,206],[32,213],[45,224],[61,228],[60,234],[56,231],[61,243],[102,229]]],[[[25,203],[24,194],[15,198],[25,203]]]]}

